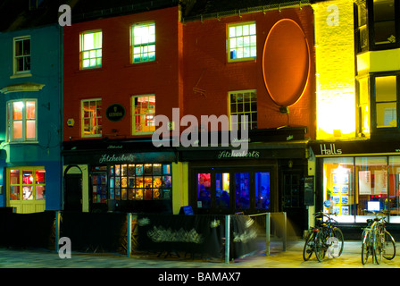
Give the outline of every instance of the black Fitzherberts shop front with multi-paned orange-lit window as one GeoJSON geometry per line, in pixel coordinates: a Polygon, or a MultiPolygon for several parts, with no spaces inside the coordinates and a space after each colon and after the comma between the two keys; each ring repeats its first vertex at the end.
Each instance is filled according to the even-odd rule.
{"type": "Polygon", "coordinates": [[[64,210],[171,214],[176,155],[150,145],[64,142],[64,210]]]}

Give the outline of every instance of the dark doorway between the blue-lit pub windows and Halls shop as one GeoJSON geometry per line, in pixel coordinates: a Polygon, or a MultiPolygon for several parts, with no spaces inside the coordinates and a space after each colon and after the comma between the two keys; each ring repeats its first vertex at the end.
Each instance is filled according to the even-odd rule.
{"type": "Polygon", "coordinates": [[[290,170],[283,173],[281,181],[282,211],[287,213],[288,227],[301,236],[304,231],[305,207],[304,207],[304,179],[300,170],[290,170]]]}

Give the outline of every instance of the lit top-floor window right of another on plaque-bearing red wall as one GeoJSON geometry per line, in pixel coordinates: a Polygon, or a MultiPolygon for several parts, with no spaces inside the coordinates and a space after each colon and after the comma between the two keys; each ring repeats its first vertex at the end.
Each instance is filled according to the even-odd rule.
{"type": "Polygon", "coordinates": [[[139,22],[130,26],[130,63],[154,62],[155,40],[155,21],[139,22]],[[135,29],[151,27],[154,27],[154,34],[147,34],[145,37],[135,34],[135,29]],[[138,61],[136,61],[137,55],[139,55],[138,61]]]}

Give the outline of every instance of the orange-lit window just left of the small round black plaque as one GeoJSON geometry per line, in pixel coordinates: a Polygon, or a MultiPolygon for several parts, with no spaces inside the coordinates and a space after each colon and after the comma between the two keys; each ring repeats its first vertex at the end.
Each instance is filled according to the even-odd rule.
{"type": "Polygon", "coordinates": [[[82,137],[102,136],[102,99],[81,101],[82,137]]]}

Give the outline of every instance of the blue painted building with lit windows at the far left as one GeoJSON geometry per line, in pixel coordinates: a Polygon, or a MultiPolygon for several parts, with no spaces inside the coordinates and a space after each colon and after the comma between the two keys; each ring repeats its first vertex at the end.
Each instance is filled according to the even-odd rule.
{"type": "Polygon", "coordinates": [[[63,28],[58,1],[0,5],[0,207],[63,207],[63,28]]]}

